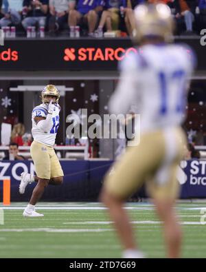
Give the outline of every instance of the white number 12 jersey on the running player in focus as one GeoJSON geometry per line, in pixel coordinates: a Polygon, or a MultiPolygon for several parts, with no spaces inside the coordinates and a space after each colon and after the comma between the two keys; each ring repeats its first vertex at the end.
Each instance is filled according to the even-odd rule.
{"type": "Polygon", "coordinates": [[[35,117],[47,117],[48,106],[45,104],[38,105],[32,110],[32,136],[34,140],[38,143],[43,143],[45,145],[54,146],[56,133],[59,126],[59,112],[60,106],[58,104],[54,107],[54,112],[52,114],[53,126],[50,132],[43,132],[39,129],[34,121],[35,117]]]}

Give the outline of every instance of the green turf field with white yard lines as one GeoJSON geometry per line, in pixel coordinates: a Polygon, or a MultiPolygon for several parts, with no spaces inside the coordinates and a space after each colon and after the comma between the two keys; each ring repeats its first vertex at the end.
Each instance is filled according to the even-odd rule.
{"type": "MultiPolygon", "coordinates": [[[[0,258],[120,258],[121,245],[106,210],[98,203],[41,203],[43,218],[23,218],[25,203],[3,207],[0,258]]],[[[1,206],[2,207],[2,206],[1,206]]],[[[161,224],[153,206],[126,205],[148,258],[165,257],[161,224]]],[[[206,224],[201,224],[205,203],[177,205],[183,223],[184,258],[206,258],[206,224]]],[[[2,210],[1,210],[2,213],[2,210]]],[[[206,218],[203,218],[203,221],[206,218]]],[[[1,222],[1,220],[0,220],[1,222]]]]}

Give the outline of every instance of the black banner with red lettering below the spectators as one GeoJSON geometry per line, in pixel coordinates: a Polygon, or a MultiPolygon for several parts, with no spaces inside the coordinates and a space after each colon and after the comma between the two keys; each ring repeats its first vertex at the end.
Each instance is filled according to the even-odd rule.
{"type": "MultiPolygon", "coordinates": [[[[190,45],[198,70],[206,70],[205,47],[198,39],[176,42],[190,45]]],[[[190,48],[185,50],[190,57],[190,48]]],[[[10,39],[0,46],[0,70],[117,70],[130,52],[137,53],[130,39],[10,39]]]]}

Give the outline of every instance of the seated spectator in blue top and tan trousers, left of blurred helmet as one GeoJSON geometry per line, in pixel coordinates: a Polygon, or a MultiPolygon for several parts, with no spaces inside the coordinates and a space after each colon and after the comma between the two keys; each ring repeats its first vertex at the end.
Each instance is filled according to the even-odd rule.
{"type": "MultiPolygon", "coordinates": [[[[97,36],[103,36],[103,28],[106,25],[107,31],[119,29],[119,14],[120,12],[124,16],[124,9],[126,8],[126,0],[104,0],[104,10],[100,24],[98,26],[97,36]]],[[[122,16],[121,15],[121,16],[122,16]]]]}

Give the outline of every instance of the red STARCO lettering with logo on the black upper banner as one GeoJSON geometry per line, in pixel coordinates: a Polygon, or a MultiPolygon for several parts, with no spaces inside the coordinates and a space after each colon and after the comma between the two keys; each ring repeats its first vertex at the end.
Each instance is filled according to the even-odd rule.
{"type": "Polygon", "coordinates": [[[66,48],[65,61],[122,61],[130,52],[137,53],[135,48],[66,48]]]}

